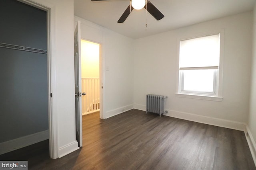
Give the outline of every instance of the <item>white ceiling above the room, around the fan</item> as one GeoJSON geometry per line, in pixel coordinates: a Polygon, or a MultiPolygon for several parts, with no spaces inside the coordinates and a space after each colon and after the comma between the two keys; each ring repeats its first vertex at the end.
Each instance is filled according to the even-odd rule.
{"type": "Polygon", "coordinates": [[[117,23],[129,0],[74,0],[74,15],[138,39],[187,25],[239,14],[253,9],[256,0],[150,0],[164,14],[157,21],[146,10],[133,10],[124,23],[117,23]],[[146,23],[148,26],[146,27],[146,23]]]}

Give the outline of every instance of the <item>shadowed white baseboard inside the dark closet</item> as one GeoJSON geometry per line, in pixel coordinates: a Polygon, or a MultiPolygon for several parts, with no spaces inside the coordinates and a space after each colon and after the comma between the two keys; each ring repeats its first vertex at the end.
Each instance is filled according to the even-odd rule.
{"type": "Polygon", "coordinates": [[[6,141],[0,143],[0,154],[27,147],[29,145],[33,145],[46,139],[49,139],[49,130],[6,141]]]}

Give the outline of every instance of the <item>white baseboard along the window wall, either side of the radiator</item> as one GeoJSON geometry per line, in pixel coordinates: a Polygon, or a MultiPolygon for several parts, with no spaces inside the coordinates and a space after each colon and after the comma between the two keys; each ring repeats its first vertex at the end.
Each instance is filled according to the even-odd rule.
{"type": "MultiPolygon", "coordinates": [[[[134,109],[139,109],[139,110],[146,110],[145,105],[140,105],[140,104],[134,104],[134,109]]],[[[219,118],[214,118],[214,117],[208,117],[208,116],[203,116],[203,115],[196,115],[193,113],[186,113],[186,112],[181,112],[181,111],[174,111],[174,110],[167,110],[168,113],[164,114],[166,116],[170,117],[176,117],[178,119],[185,119],[189,121],[195,121],[198,123],[204,123],[208,125],[214,125],[214,126],[219,126],[219,127],[226,127],[230,129],[235,129],[239,131],[245,131],[245,125],[246,123],[243,122],[238,122],[238,121],[230,121],[226,119],[219,119],[219,118]]]]}

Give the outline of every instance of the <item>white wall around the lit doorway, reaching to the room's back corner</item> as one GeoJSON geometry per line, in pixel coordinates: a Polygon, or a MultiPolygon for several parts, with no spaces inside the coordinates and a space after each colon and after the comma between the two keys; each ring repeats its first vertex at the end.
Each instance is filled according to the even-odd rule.
{"type": "Polygon", "coordinates": [[[82,39],[100,43],[102,47],[102,118],[132,109],[134,40],[82,18],[75,16],[74,20],[74,26],[81,21],[82,39]]]}

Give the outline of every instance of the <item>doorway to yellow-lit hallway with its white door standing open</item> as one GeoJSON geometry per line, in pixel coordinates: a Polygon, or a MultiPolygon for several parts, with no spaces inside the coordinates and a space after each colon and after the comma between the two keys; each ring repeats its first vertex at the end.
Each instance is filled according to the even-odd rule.
{"type": "Polygon", "coordinates": [[[102,102],[100,102],[102,101],[103,76],[101,45],[81,39],[81,21],[79,20],[74,29],[74,68],[76,140],[78,147],[82,147],[82,114],[87,115],[100,110],[98,114],[101,115],[103,112],[102,102]],[[101,88],[99,88],[100,84],[101,88]]]}

